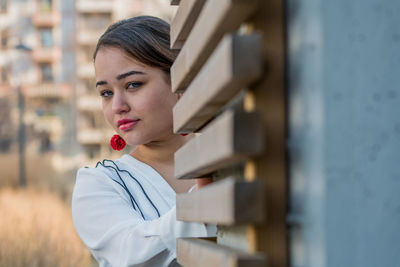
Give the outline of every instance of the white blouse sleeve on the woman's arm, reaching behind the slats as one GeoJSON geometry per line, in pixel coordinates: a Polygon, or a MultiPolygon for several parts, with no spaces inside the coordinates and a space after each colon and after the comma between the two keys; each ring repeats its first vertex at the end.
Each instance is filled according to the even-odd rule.
{"type": "Polygon", "coordinates": [[[204,224],[176,220],[175,206],[161,217],[145,221],[98,169],[80,169],[72,196],[77,233],[96,259],[111,266],[135,266],[168,250],[176,257],[176,238],[206,237],[204,224]]]}

